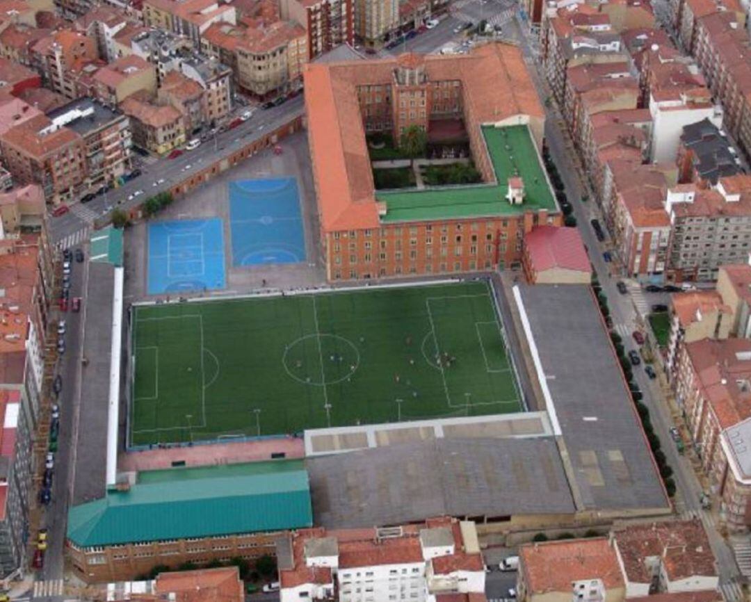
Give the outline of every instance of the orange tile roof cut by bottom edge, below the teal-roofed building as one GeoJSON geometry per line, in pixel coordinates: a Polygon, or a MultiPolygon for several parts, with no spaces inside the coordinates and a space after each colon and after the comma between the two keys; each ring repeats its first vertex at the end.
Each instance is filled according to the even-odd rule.
{"type": "Polygon", "coordinates": [[[174,594],[174,602],[244,602],[245,588],[237,567],[185,570],[179,573],[159,573],[156,593],[174,594]]]}

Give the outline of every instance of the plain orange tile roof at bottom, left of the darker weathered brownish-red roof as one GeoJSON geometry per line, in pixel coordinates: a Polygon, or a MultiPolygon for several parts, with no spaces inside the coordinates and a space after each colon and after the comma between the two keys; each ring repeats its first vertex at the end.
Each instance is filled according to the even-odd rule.
{"type": "Polygon", "coordinates": [[[570,596],[572,581],[582,579],[602,579],[608,589],[624,585],[617,555],[605,537],[526,544],[519,556],[531,594],[570,596]]]}

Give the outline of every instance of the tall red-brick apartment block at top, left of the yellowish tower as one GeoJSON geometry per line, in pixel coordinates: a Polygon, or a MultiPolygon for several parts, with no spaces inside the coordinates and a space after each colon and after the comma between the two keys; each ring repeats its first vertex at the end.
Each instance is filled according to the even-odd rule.
{"type": "Polygon", "coordinates": [[[312,61],[339,44],[354,45],[352,0],[282,0],[279,14],[307,32],[306,59],[312,61]]]}

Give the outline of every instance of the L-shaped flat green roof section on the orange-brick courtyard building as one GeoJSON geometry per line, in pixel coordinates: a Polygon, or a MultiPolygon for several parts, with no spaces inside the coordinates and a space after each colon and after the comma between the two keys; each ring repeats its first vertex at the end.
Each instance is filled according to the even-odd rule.
{"type": "Polygon", "coordinates": [[[386,215],[382,215],[381,221],[519,215],[539,209],[556,212],[558,207],[529,128],[526,125],[503,128],[484,125],[482,134],[496,173],[495,184],[379,191],[375,193],[376,199],[386,203],[386,215]],[[525,196],[521,205],[511,205],[505,200],[508,178],[514,176],[514,167],[524,181],[525,196]]]}

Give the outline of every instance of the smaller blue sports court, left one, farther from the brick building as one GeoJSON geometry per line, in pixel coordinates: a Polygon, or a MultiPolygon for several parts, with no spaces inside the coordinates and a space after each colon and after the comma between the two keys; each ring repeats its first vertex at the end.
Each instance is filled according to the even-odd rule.
{"type": "Polygon", "coordinates": [[[149,224],[149,294],[225,287],[222,220],[149,224]]]}

